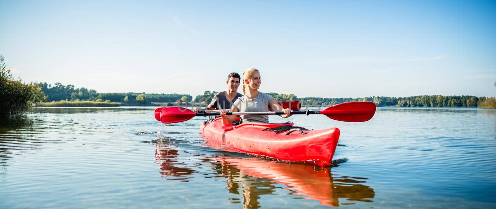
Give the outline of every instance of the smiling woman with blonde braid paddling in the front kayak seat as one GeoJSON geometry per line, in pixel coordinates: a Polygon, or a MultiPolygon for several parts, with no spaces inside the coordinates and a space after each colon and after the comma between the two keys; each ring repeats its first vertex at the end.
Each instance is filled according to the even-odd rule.
{"type": "MultiPolygon", "coordinates": [[[[283,118],[291,116],[291,109],[283,109],[281,105],[277,104],[274,97],[259,92],[260,84],[262,80],[260,79],[260,72],[254,68],[250,68],[243,72],[243,96],[238,98],[233,106],[231,107],[231,112],[266,112],[270,109],[274,111],[284,111],[285,115],[281,115],[283,118]]],[[[226,115],[229,110],[223,110],[220,112],[222,117],[222,125],[228,126],[234,122],[236,116],[226,115]]],[[[242,122],[261,122],[268,123],[268,115],[242,115],[242,122]]]]}

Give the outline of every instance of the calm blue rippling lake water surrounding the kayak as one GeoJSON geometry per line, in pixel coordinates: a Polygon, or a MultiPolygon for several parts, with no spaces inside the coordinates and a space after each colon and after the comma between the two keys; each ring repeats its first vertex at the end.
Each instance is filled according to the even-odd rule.
{"type": "Polygon", "coordinates": [[[496,208],[496,110],[379,108],[341,130],[337,167],[207,147],[204,117],[167,126],[154,107],[39,108],[1,119],[0,208],[496,208]],[[157,135],[157,131],[160,132],[157,135]]]}

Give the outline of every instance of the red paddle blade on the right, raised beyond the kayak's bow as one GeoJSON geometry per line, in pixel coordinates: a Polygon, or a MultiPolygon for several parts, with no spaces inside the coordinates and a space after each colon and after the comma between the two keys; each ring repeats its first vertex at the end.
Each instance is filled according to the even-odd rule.
{"type": "Polygon", "coordinates": [[[330,106],[320,111],[330,119],[345,122],[364,122],[375,114],[373,102],[346,102],[330,106]]]}

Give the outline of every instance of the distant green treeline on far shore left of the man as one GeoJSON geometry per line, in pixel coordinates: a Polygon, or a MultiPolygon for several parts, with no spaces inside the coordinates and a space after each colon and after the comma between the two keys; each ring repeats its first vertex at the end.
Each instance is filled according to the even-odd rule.
{"type": "Polygon", "coordinates": [[[142,93],[98,93],[94,89],[84,87],[74,88],[73,85],[63,85],[62,83],[52,84],[38,83],[41,91],[47,96],[46,101],[97,101],[97,102],[123,102],[123,103],[142,103],[146,102],[177,102],[181,99],[191,101],[192,96],[189,94],[145,94],[142,93]],[[183,98],[185,97],[186,98],[183,98]]]}

